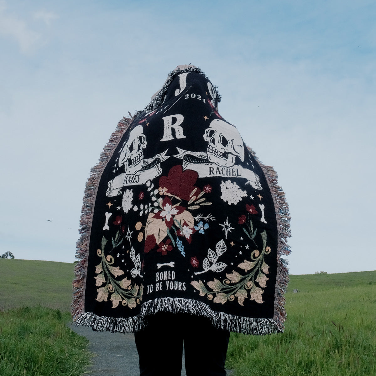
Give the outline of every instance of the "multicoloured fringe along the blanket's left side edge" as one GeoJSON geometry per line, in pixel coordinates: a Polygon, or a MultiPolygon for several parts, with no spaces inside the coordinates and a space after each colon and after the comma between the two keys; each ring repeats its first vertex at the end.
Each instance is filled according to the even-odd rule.
{"type": "Polygon", "coordinates": [[[90,223],[92,220],[99,179],[102,176],[103,170],[109,159],[112,157],[115,148],[120,142],[121,137],[124,135],[124,132],[127,130],[130,123],[132,123],[133,118],[123,117],[119,121],[115,131],[112,133],[108,143],[100,154],[98,164],[90,170],[89,179],[86,182],[80,217],[79,233],[81,236],[76,244],[76,259],[78,259],[79,262],[77,262],[76,267],[74,268],[74,275],[76,278],[73,280],[73,300],[71,304],[73,320],[76,320],[77,317],[84,314],[84,294],[88,266],[88,249],[90,243],[90,223]]]}

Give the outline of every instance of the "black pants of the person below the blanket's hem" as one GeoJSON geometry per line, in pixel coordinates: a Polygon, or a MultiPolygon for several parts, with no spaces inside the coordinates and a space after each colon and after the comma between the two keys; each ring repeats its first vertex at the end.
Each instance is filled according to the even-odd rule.
{"type": "Polygon", "coordinates": [[[160,312],[135,333],[140,376],[180,376],[183,343],[187,376],[225,376],[230,332],[206,317],[160,312]]]}

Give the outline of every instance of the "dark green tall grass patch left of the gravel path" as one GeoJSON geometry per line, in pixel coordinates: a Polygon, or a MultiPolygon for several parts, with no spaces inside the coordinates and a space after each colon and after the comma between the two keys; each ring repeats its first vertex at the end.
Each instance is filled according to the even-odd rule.
{"type": "Polygon", "coordinates": [[[0,375],[81,375],[91,358],[88,340],[68,321],[68,312],[41,306],[0,312],[0,375]]]}

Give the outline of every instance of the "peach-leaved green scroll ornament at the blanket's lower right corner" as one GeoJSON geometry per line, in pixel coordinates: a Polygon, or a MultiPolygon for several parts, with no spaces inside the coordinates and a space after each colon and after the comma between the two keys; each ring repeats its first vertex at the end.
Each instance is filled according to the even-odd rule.
{"type": "Polygon", "coordinates": [[[198,280],[192,281],[191,285],[199,291],[200,296],[206,296],[214,303],[233,302],[235,298],[242,306],[244,300],[248,298],[257,303],[263,303],[262,293],[268,280],[267,274],[269,274],[269,265],[265,262],[264,257],[271,252],[271,249],[266,247],[267,235],[265,230],[261,233],[261,238],[262,251],[253,250],[251,259],[245,259],[237,266],[246,274],[233,270],[232,273],[226,273],[226,278],[222,281],[214,278],[205,285],[202,280],[198,280]]]}

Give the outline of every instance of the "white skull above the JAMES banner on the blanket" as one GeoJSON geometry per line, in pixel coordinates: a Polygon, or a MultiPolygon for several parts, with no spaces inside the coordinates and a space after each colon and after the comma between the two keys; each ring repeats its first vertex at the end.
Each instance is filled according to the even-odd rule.
{"type": "Polygon", "coordinates": [[[134,127],[129,133],[128,141],[121,148],[118,165],[119,167],[124,165],[127,175],[133,175],[142,168],[144,161],[143,149],[145,149],[147,144],[143,131],[141,125],[134,127]]]}

